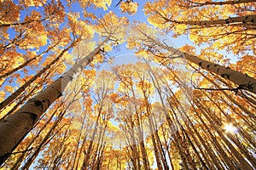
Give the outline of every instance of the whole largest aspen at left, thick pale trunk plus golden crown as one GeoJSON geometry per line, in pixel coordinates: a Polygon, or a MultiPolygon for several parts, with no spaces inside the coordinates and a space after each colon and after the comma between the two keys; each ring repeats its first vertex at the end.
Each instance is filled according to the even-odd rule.
{"type": "MultiPolygon", "coordinates": [[[[7,159],[12,150],[15,149],[16,145],[26,136],[26,133],[30,131],[36,122],[38,122],[38,119],[42,116],[44,111],[49,108],[49,105],[61,97],[63,91],[67,88],[68,84],[72,82],[73,78],[82,71],[86,65],[90,64],[96,54],[102,52],[102,47],[109,40],[111,40],[113,44],[122,41],[122,38],[125,35],[125,26],[128,25],[128,21],[124,17],[119,19],[115,14],[110,12],[109,14],[106,14],[103,19],[97,19],[96,17],[94,17],[94,19],[98,21],[98,24],[96,25],[97,31],[102,32],[105,39],[100,42],[90,54],[79,59],[79,61],[73,65],[69,71],[64,73],[62,77],[50,84],[33,99],[30,99],[26,105],[23,105],[19,111],[15,112],[15,114],[1,122],[0,138],[3,140],[0,141],[0,164],[7,159]]],[[[73,16],[71,16],[69,20],[71,23],[70,25],[72,26],[78,24],[73,16]]],[[[76,32],[74,30],[74,33],[84,35],[86,31],[76,32]]]]}

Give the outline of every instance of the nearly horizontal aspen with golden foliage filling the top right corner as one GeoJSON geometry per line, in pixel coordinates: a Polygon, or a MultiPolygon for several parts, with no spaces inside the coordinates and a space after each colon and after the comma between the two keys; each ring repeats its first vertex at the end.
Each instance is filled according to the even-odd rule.
{"type": "Polygon", "coordinates": [[[255,53],[255,2],[207,3],[158,0],[146,3],[144,11],[150,24],[162,31],[174,31],[174,37],[189,34],[191,41],[212,49],[225,49],[233,54],[255,53]]]}

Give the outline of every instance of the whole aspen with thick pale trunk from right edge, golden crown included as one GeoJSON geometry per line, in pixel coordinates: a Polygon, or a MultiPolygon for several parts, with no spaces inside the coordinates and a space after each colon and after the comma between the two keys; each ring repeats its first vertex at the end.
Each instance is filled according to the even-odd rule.
{"type": "Polygon", "coordinates": [[[195,55],[183,53],[176,48],[169,47],[167,44],[165,44],[165,42],[160,42],[160,40],[154,36],[155,31],[146,25],[138,24],[137,26],[133,26],[132,30],[133,32],[131,32],[128,39],[128,42],[130,42],[130,48],[135,48],[137,46],[137,49],[146,49],[152,54],[154,54],[154,51],[158,50],[159,48],[165,49],[172,53],[171,56],[166,56],[167,59],[184,57],[184,59],[187,59],[195,65],[199,65],[201,68],[207,71],[214,72],[219,76],[234,82],[236,85],[238,85],[237,89],[246,89],[253,94],[256,94],[256,80],[253,77],[249,77],[239,71],[234,71],[229,67],[214,64],[205,59],[196,57],[195,55]]]}

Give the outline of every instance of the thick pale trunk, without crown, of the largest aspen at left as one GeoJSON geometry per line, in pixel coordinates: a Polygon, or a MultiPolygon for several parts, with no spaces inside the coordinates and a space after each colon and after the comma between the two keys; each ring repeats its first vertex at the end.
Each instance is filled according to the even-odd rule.
{"type": "Polygon", "coordinates": [[[26,136],[33,125],[38,122],[38,119],[44,111],[49,108],[56,99],[60,98],[62,92],[67,88],[68,84],[73,80],[84,67],[90,64],[90,61],[96,54],[101,52],[102,45],[108,42],[107,37],[97,48],[95,48],[85,58],[80,59],[76,65],[64,73],[62,77],[45,88],[33,99],[28,100],[26,105],[16,111],[15,114],[9,116],[3,122],[0,122],[0,165],[5,161],[9,154],[15,150],[17,144],[26,136]]]}

